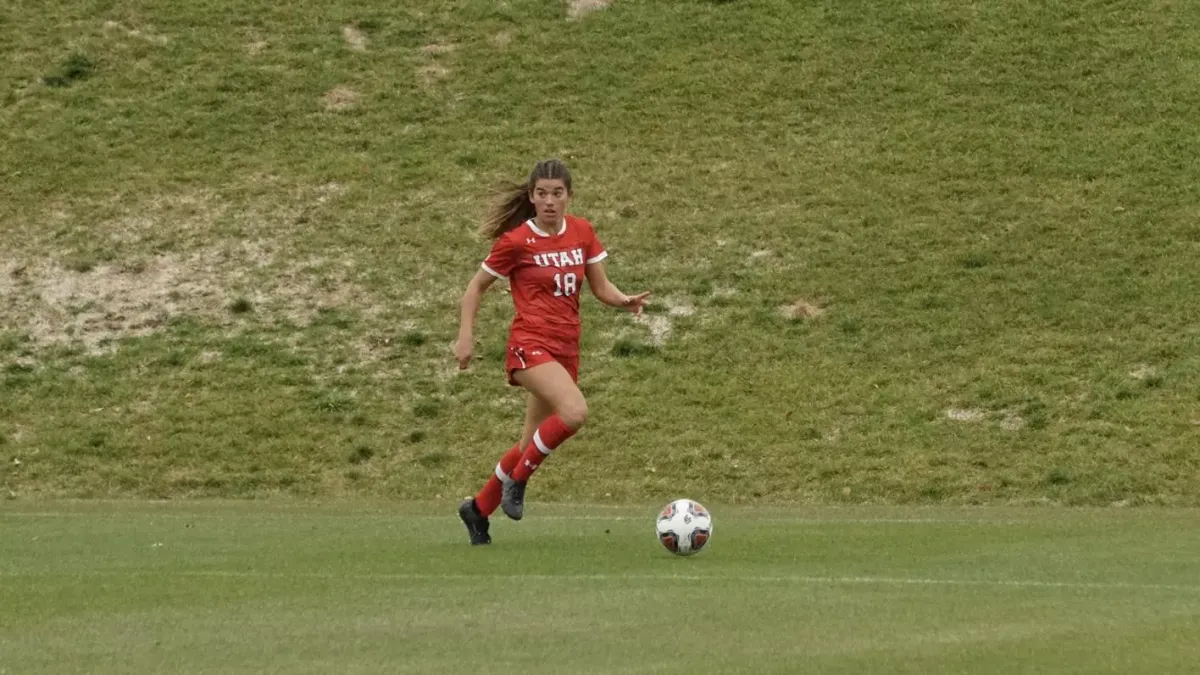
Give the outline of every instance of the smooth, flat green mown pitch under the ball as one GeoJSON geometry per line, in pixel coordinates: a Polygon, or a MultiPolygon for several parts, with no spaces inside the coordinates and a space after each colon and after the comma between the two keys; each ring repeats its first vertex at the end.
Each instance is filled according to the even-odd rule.
{"type": "Polygon", "coordinates": [[[47,502],[0,513],[8,673],[1112,673],[1200,658],[1194,510],[47,502]],[[450,510],[451,513],[448,513],[450,510]]]}

